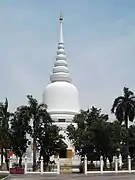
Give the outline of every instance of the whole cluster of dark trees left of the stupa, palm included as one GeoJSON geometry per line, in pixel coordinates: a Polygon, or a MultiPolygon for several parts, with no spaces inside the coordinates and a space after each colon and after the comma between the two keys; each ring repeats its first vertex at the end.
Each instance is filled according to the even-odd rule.
{"type": "Polygon", "coordinates": [[[8,112],[7,99],[5,103],[0,103],[0,148],[6,158],[7,169],[8,149],[20,158],[21,166],[22,157],[28,147],[28,134],[33,138],[33,170],[36,170],[38,151],[43,156],[44,163],[48,163],[50,156],[58,153],[62,146],[63,137],[59,135],[60,129],[52,124],[47,106],[31,95],[27,98],[28,105],[18,107],[12,114],[8,112]]]}

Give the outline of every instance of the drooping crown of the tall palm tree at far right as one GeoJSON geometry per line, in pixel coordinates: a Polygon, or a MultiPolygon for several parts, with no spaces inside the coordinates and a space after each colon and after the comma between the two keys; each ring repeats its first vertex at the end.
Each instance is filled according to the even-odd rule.
{"type": "Polygon", "coordinates": [[[111,112],[115,114],[121,124],[124,122],[128,129],[129,121],[133,122],[135,117],[135,96],[126,87],[123,88],[123,94],[114,100],[111,112]]]}

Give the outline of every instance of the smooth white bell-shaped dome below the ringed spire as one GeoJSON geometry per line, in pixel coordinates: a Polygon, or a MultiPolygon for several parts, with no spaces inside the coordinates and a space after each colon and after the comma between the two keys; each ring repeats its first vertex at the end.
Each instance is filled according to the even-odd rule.
{"type": "Polygon", "coordinates": [[[63,113],[75,115],[79,112],[78,90],[68,82],[59,81],[46,86],[43,102],[50,114],[63,113]]]}

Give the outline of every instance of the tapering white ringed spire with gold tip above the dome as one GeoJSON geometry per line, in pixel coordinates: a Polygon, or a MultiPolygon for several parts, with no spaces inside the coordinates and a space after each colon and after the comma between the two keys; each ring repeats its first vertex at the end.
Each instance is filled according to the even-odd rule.
{"type": "Polygon", "coordinates": [[[65,49],[64,49],[62,12],[60,14],[59,21],[60,21],[60,37],[58,41],[56,61],[54,63],[53,73],[50,76],[50,80],[51,82],[56,82],[56,81],[71,82],[68,64],[67,64],[67,58],[66,58],[65,49]]]}

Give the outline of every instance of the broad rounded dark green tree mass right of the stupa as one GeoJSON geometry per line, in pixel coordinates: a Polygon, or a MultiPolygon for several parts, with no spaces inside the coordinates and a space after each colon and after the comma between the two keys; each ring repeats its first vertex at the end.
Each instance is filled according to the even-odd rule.
{"type": "Polygon", "coordinates": [[[119,121],[109,122],[108,115],[101,113],[101,109],[92,107],[81,111],[74,118],[74,123],[67,128],[69,139],[75,145],[76,152],[88,160],[99,160],[103,156],[106,166],[107,157],[110,163],[114,155],[124,154],[125,126],[119,121]]]}

